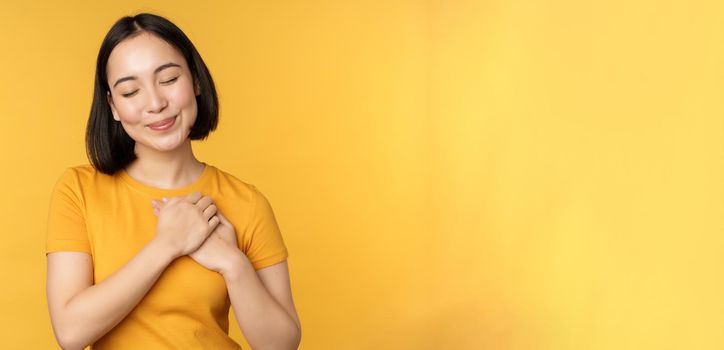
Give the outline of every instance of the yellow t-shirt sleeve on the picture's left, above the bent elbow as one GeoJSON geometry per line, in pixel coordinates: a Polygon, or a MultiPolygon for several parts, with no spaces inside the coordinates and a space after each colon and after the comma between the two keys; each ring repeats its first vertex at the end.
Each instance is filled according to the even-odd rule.
{"type": "Polygon", "coordinates": [[[78,175],[67,168],[50,196],[45,254],[57,251],[91,253],[78,175]]]}

